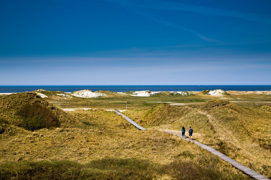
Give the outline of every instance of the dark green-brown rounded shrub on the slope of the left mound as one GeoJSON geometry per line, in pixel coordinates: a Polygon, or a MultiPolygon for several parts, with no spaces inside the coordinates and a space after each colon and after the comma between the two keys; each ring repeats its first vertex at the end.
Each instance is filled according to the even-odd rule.
{"type": "Polygon", "coordinates": [[[54,115],[50,109],[47,109],[41,104],[28,104],[20,109],[17,115],[22,118],[22,122],[19,126],[30,131],[59,126],[58,116],[54,115]]]}

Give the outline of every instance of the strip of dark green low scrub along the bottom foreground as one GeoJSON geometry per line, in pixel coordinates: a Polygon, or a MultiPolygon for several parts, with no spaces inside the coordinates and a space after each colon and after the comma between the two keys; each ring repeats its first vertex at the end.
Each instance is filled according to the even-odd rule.
{"type": "Polygon", "coordinates": [[[67,160],[8,162],[0,164],[0,179],[251,179],[233,172],[217,157],[200,159],[178,158],[167,165],[138,158],[101,158],[86,164],[67,160]],[[224,171],[220,171],[221,165],[224,171]]]}

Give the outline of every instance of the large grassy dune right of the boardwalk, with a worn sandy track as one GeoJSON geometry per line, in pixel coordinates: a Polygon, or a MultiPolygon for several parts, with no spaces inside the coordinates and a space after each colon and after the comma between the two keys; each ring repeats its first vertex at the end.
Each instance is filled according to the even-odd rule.
{"type": "Polygon", "coordinates": [[[225,100],[202,105],[154,108],[125,112],[140,125],[181,134],[192,126],[194,138],[271,178],[270,107],[242,108],[225,100]]]}

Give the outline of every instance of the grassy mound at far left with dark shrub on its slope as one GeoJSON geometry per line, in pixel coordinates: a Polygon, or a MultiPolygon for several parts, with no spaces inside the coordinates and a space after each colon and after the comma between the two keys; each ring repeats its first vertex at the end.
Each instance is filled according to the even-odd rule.
{"type": "Polygon", "coordinates": [[[23,127],[27,130],[58,127],[70,121],[66,113],[44,101],[34,92],[0,96],[0,124],[23,127]]]}

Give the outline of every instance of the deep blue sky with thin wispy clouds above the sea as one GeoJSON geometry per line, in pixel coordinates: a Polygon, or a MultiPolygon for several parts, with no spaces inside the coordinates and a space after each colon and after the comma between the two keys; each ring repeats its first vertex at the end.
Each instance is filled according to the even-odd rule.
{"type": "Polygon", "coordinates": [[[0,85],[270,85],[270,7],[3,0],[0,85]]]}

